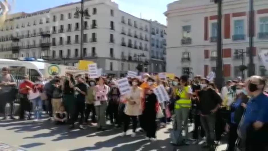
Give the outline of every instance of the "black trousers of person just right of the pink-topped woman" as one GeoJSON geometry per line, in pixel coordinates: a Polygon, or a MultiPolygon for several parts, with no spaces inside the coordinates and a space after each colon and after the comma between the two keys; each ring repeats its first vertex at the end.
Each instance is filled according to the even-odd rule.
{"type": "Polygon", "coordinates": [[[118,124],[118,106],[119,102],[115,99],[109,100],[109,106],[108,106],[108,112],[109,112],[109,118],[111,123],[118,124]]]}

